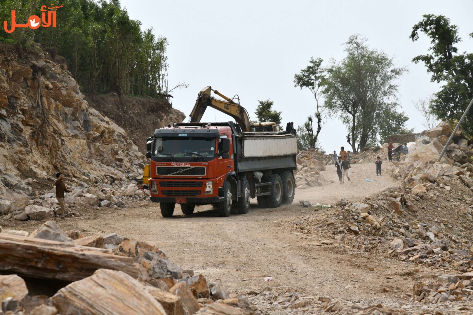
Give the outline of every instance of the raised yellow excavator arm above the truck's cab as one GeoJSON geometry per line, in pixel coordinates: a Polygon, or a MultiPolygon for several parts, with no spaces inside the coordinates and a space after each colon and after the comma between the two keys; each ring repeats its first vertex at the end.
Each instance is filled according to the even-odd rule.
{"type": "Polygon", "coordinates": [[[235,119],[242,129],[245,129],[245,131],[251,131],[252,124],[245,108],[227,96],[220,94],[219,91],[212,89],[211,86],[203,88],[202,91],[197,95],[197,101],[195,102],[194,108],[189,115],[191,117],[190,122],[200,122],[207,107],[211,107],[228,114],[229,116],[233,117],[233,119],[235,119]],[[213,96],[210,96],[211,91],[222,97],[223,100],[219,100],[213,96]]]}

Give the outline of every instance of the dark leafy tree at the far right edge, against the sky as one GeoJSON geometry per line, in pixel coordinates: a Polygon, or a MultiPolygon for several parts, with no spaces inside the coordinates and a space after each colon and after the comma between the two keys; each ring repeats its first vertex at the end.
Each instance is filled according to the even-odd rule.
{"type": "MultiPolygon", "coordinates": [[[[426,34],[432,46],[429,53],[419,55],[413,62],[423,62],[427,72],[432,74],[431,82],[443,83],[434,94],[430,108],[439,118],[453,122],[459,119],[473,97],[473,53],[458,53],[455,46],[461,42],[458,26],[450,24],[443,15],[426,14],[412,27],[409,36],[413,42],[419,39],[419,32],[426,34]]],[[[470,34],[473,38],[473,33],[470,34]]],[[[473,111],[465,117],[464,131],[473,134],[473,111]]]]}

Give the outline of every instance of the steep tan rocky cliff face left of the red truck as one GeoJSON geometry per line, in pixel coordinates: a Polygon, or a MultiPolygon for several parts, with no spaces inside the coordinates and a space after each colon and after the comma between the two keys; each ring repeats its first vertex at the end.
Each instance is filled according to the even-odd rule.
{"type": "Polygon", "coordinates": [[[50,189],[58,171],[73,183],[138,177],[143,162],[127,132],[89,106],[63,59],[0,43],[2,198],[50,189]]]}

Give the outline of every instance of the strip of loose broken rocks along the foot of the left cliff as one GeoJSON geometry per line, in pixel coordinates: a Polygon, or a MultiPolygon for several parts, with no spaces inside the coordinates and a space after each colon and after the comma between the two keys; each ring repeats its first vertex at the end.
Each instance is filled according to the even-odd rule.
{"type": "MultiPolygon", "coordinates": [[[[149,199],[149,190],[139,189],[136,184],[125,184],[121,181],[113,184],[96,184],[88,186],[70,187],[72,193],[66,193],[65,202],[69,207],[69,216],[81,215],[74,209],[85,210],[87,207],[109,207],[124,208],[130,202],[144,201],[149,199]]],[[[15,200],[0,199],[0,219],[42,221],[53,216],[54,211],[59,208],[55,198],[55,188],[42,195],[32,198],[17,197],[15,200]]]]}

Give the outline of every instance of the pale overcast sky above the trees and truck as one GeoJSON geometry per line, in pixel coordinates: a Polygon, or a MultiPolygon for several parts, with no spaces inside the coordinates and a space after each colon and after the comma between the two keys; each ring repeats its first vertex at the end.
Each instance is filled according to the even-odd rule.
{"type": "MultiPolygon", "coordinates": [[[[283,123],[301,125],[315,111],[308,90],[294,87],[294,74],[310,57],[341,60],[343,43],[351,34],[368,38],[368,45],[394,57],[409,73],[400,79],[399,100],[410,119],[409,128],[424,130],[412,100],[438,90],[422,64],[412,58],[427,53],[424,34],[409,39],[423,14],[443,14],[459,27],[459,51],[473,51],[473,1],[149,1],[122,0],[131,18],[153,27],[169,41],[169,86],[173,107],[189,115],[205,86],[227,96],[238,94],[251,119],[258,100],[271,99],[282,111],[283,123]]],[[[465,107],[468,104],[465,104],[465,107]]],[[[229,116],[207,109],[202,121],[228,121],[229,116]]],[[[185,119],[187,121],[187,118],[185,119]]],[[[348,146],[346,128],[336,118],[324,119],[320,144],[331,152],[348,146]]]]}

